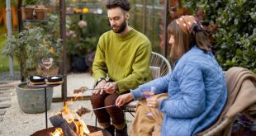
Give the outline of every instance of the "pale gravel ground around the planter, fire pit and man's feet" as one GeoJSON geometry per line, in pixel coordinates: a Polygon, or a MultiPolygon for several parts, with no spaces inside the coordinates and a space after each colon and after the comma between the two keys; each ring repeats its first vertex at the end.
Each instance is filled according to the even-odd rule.
{"type": "MultiPolygon", "coordinates": [[[[0,77],[2,77],[2,75],[0,75],[0,77]]],[[[74,88],[83,86],[92,87],[92,83],[93,79],[89,73],[71,73],[68,75],[68,94],[70,91],[73,91],[74,88]]],[[[16,92],[13,92],[12,106],[7,109],[2,122],[0,122],[0,136],[28,136],[34,134],[38,130],[45,129],[45,112],[40,114],[26,114],[22,112],[18,105],[16,92]]],[[[59,96],[60,92],[59,87],[56,87],[54,97],[59,96]]],[[[87,93],[86,95],[90,94],[91,93],[87,93]]],[[[50,115],[57,113],[63,106],[63,102],[52,103],[50,110],[47,112],[48,119],[50,115]]],[[[69,109],[77,110],[80,106],[92,110],[90,101],[73,101],[73,104],[69,105],[69,109]]],[[[95,116],[92,112],[87,115],[83,115],[83,120],[85,124],[92,126],[95,125],[95,116]]],[[[131,120],[133,120],[133,117],[129,113],[126,113],[128,129],[130,128],[131,120]]],[[[48,127],[51,126],[50,120],[48,120],[48,127]]]]}

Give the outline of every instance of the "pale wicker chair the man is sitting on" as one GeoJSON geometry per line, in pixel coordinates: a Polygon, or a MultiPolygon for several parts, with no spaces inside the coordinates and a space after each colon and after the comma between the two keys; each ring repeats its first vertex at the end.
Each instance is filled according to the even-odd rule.
{"type": "MultiPolygon", "coordinates": [[[[163,55],[152,52],[150,69],[153,79],[158,77],[164,77],[167,73],[172,71],[171,65],[163,55]]],[[[138,101],[131,101],[126,106],[124,106],[124,112],[129,112],[130,115],[134,116],[132,113],[136,110],[136,105],[138,101]]]]}

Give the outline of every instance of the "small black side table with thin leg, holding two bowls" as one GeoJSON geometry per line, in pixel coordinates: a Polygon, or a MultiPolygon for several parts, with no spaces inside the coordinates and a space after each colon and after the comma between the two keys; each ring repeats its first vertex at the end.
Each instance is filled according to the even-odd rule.
{"type": "Polygon", "coordinates": [[[46,125],[46,129],[48,128],[48,122],[47,122],[47,97],[46,97],[46,88],[47,87],[57,87],[59,85],[61,85],[61,83],[56,83],[56,84],[41,84],[41,85],[33,85],[28,83],[26,86],[27,87],[34,87],[34,88],[45,88],[45,125],[46,125]]]}

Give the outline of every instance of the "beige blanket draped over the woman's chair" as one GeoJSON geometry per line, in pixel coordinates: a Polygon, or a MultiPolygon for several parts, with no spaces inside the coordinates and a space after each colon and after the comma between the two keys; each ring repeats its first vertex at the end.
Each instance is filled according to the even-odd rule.
{"type": "Polygon", "coordinates": [[[197,134],[226,136],[231,134],[235,116],[244,113],[256,120],[256,76],[248,69],[233,67],[225,73],[228,101],[219,119],[209,129],[197,134]]]}

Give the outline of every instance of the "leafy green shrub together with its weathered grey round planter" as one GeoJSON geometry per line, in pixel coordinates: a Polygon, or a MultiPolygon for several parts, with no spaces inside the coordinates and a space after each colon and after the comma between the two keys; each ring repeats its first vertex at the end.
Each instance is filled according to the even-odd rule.
{"type": "MultiPolygon", "coordinates": [[[[51,57],[58,60],[61,52],[59,40],[45,34],[40,27],[26,27],[17,35],[7,40],[2,53],[12,55],[21,65],[21,81],[25,81],[30,75],[36,75],[36,68],[42,58],[51,57]]],[[[39,113],[45,111],[45,99],[43,88],[31,88],[27,82],[17,85],[17,98],[21,110],[25,113],[39,113]]],[[[47,106],[50,108],[53,88],[47,88],[47,106]]],[[[47,109],[48,110],[48,109],[47,109]]]]}

